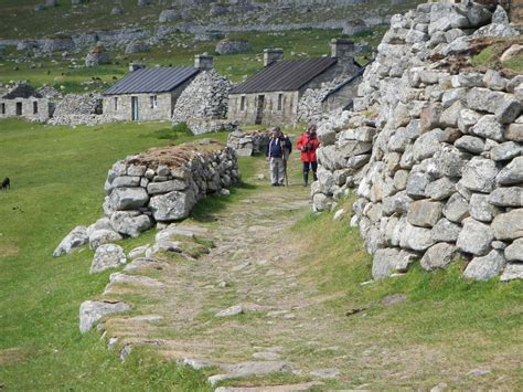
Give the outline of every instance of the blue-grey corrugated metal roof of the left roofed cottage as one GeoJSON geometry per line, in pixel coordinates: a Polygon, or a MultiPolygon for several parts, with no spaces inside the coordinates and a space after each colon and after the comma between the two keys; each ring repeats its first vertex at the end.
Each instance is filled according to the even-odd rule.
{"type": "Polygon", "coordinates": [[[199,72],[199,68],[192,66],[141,68],[118,81],[104,95],[166,93],[173,91],[199,72]]]}

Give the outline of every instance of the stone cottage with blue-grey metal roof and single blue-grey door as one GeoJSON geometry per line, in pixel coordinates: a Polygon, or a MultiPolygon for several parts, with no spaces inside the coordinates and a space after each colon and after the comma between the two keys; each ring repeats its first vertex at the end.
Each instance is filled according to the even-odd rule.
{"type": "Polygon", "coordinates": [[[131,64],[129,75],[104,93],[104,115],[122,121],[171,120],[181,93],[213,57],[196,55],[194,66],[146,68],[131,64]]]}

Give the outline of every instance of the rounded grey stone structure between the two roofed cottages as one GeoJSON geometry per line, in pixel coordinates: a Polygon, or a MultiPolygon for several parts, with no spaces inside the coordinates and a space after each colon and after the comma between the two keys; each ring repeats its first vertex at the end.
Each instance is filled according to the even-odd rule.
{"type": "Polygon", "coordinates": [[[181,93],[172,114],[172,123],[194,123],[195,135],[213,127],[198,126],[198,121],[225,119],[227,117],[231,82],[216,71],[201,72],[181,93]]]}

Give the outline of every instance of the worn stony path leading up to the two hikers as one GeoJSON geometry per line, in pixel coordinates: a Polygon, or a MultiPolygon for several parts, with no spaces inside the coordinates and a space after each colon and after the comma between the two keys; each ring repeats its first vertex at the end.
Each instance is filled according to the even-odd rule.
{"type": "MultiPolygon", "coordinates": [[[[337,340],[348,336],[332,336],[324,298],[300,282],[302,250],[288,234],[310,211],[308,193],[298,183],[258,186],[214,213],[210,222],[179,224],[212,240],[215,247],[199,258],[159,254],[138,269],[131,264],[132,271],[124,274],[147,275],[162,285],[109,285],[107,296],[130,298],[141,315],[106,320],[110,343],[124,348],[124,356],[129,347],[146,345],[195,368],[213,365],[212,383],[263,375],[262,383],[270,384],[277,372],[285,374],[276,384],[286,378],[338,377],[337,340]],[[216,317],[226,309],[241,314],[216,317]],[[311,350],[319,353],[316,363],[308,359],[311,350]]],[[[297,384],[297,389],[300,385],[310,386],[297,384]]]]}

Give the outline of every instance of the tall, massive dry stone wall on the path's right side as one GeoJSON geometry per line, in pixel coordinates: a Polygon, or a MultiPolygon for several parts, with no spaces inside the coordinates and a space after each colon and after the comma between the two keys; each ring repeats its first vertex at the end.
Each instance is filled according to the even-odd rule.
{"type": "Polygon", "coordinates": [[[394,17],[354,112],[320,126],[313,208],[356,189],[351,224],[376,279],[459,257],[466,278],[523,277],[523,76],[462,65],[476,36],[512,34],[503,13],[435,3],[394,17]]]}

